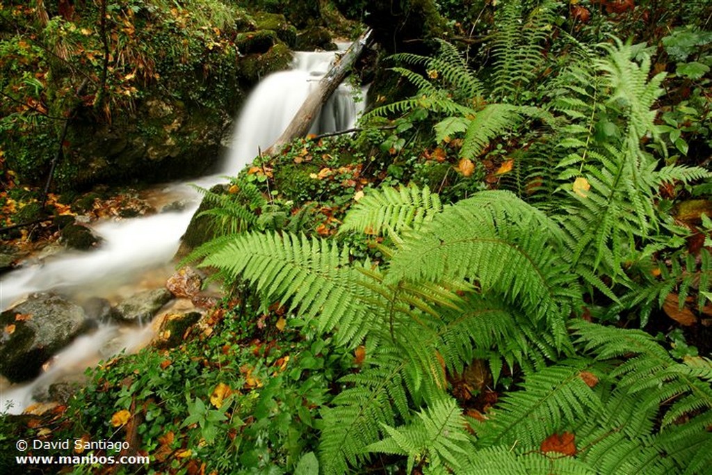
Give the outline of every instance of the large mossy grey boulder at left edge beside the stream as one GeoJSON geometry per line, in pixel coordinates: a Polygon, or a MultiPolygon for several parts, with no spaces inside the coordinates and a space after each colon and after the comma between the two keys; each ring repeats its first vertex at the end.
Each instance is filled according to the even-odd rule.
{"type": "Polygon", "coordinates": [[[13,382],[36,377],[59,350],[90,324],[84,310],[51,293],[36,293],[0,314],[0,373],[13,382]]]}

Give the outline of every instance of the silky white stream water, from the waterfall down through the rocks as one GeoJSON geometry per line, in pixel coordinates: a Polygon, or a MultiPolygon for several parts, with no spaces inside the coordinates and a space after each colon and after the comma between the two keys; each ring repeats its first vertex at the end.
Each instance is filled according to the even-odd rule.
{"type": "MultiPolygon", "coordinates": [[[[269,147],[287,127],[316,81],[330,68],[335,53],[297,52],[293,69],[267,76],[251,93],[236,121],[233,147],[221,174],[236,174],[269,147]]],[[[350,85],[340,85],[322,108],[311,132],[325,133],[353,127],[359,108],[350,85]]],[[[210,187],[218,176],[193,183],[210,187]]],[[[157,187],[152,194],[159,202],[182,200],[177,212],[120,221],[105,220],[91,227],[103,241],[93,251],[63,251],[46,259],[25,263],[0,278],[0,309],[6,310],[28,293],[54,291],[82,303],[89,298],[106,298],[116,303],[145,288],[162,287],[174,271],[172,257],[180,237],[199,204],[197,192],[187,184],[157,187]]],[[[157,202],[157,204],[159,204],[157,202]]],[[[160,207],[157,206],[157,209],[160,207]]],[[[145,328],[101,323],[90,335],[76,338],[46,364],[46,370],[31,382],[10,385],[0,377],[0,412],[20,413],[38,393],[61,377],[76,375],[85,367],[125,348],[137,350],[152,338],[152,325],[145,328]]]]}

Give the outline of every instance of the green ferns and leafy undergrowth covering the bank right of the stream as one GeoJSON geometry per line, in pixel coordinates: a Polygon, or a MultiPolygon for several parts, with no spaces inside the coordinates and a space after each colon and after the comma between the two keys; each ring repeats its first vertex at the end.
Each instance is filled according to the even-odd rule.
{"type": "Polygon", "coordinates": [[[204,190],[184,263],[226,297],[51,437],[152,456],[123,473],[709,472],[710,7],[423,3],[471,27],[390,57],[416,92],[357,135],[204,190]]]}

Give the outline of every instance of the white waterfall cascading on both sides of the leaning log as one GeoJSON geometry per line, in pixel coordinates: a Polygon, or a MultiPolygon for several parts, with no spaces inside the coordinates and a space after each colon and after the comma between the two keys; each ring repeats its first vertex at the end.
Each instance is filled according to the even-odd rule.
{"type": "MultiPolygon", "coordinates": [[[[316,83],[328,73],[338,53],[296,51],[292,69],[272,73],[261,80],[236,121],[233,146],[223,173],[236,174],[277,140],[316,83]]],[[[309,132],[321,134],[353,127],[363,110],[362,103],[355,102],[350,84],[339,85],[309,132]]]]}

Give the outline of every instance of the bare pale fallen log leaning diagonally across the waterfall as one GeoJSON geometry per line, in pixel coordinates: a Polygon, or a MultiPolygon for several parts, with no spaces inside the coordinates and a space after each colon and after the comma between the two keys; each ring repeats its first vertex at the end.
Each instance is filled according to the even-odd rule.
{"type": "Polygon", "coordinates": [[[319,80],[319,83],[297,111],[294,118],[282,135],[261,155],[276,155],[282,147],[287,145],[296,137],[307,135],[314,119],[319,115],[321,106],[330,98],[342,80],[351,71],[353,63],[361,56],[366,44],[371,36],[371,30],[363,33],[357,41],[346,50],[340,58],[337,58],[334,66],[319,80]]]}

